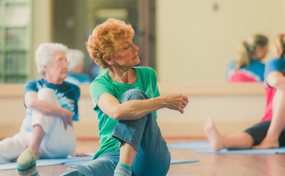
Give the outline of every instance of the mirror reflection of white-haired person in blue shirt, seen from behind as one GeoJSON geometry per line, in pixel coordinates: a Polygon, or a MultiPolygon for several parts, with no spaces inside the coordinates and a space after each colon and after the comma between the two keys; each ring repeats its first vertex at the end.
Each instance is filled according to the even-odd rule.
{"type": "Polygon", "coordinates": [[[81,50],[69,49],[67,54],[68,74],[64,79],[66,82],[73,84],[88,84],[91,79],[88,75],[83,74],[85,55],[81,50]]]}

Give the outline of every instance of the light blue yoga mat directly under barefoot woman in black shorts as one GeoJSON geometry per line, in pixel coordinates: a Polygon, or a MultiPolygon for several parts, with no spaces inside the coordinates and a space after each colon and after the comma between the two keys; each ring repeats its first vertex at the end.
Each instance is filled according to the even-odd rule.
{"type": "Polygon", "coordinates": [[[277,154],[277,153],[285,153],[285,147],[280,147],[277,149],[248,149],[248,150],[223,149],[220,151],[196,150],[195,153],[201,153],[201,154],[277,154]]]}

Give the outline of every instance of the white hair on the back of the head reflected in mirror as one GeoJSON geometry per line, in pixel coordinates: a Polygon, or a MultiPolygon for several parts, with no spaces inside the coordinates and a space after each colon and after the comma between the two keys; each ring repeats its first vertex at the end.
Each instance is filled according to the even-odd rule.
{"type": "Polygon", "coordinates": [[[69,72],[73,72],[78,66],[84,65],[85,54],[81,50],[69,49],[66,57],[69,72]]]}

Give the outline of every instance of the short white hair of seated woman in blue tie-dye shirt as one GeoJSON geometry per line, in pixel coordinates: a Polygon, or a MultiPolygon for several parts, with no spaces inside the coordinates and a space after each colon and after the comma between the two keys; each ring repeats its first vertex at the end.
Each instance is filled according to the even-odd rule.
{"type": "Polygon", "coordinates": [[[66,54],[68,48],[65,45],[59,43],[43,43],[39,45],[35,51],[35,62],[39,74],[45,75],[44,67],[52,64],[54,54],[57,51],[66,54]]]}

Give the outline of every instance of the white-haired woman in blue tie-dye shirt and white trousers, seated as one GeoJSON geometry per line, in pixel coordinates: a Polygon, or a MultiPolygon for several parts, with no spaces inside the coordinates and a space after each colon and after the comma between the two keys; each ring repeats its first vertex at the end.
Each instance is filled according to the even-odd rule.
{"type": "Polygon", "coordinates": [[[72,121],[78,121],[80,89],[64,81],[67,50],[57,43],[38,47],[35,61],[43,78],[25,85],[27,111],[20,132],[0,141],[0,163],[10,162],[24,151],[18,158],[20,175],[36,175],[35,158],[66,157],[75,149],[72,121]]]}

